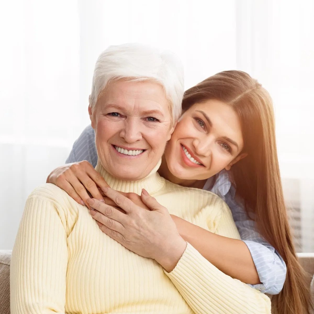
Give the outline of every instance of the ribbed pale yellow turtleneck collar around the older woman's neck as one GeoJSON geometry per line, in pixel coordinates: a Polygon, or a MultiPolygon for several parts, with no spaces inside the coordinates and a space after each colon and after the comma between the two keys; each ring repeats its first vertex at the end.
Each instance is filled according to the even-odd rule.
{"type": "Polygon", "coordinates": [[[149,173],[145,178],[138,181],[126,181],[123,179],[117,179],[113,177],[100,162],[98,158],[97,165],[95,170],[100,173],[100,175],[105,179],[108,185],[117,191],[121,192],[134,192],[141,194],[142,189],[144,188],[150,195],[158,192],[165,185],[165,179],[162,178],[157,170],[160,167],[161,160],[154,167],[154,169],[149,173]]]}

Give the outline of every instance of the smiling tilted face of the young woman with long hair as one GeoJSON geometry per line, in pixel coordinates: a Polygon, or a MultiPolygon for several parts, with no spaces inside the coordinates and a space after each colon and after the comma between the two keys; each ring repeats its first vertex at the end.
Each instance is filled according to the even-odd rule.
{"type": "Polygon", "coordinates": [[[245,154],[240,119],[219,100],[196,103],[179,120],[165,150],[171,173],[180,179],[204,180],[236,163],[245,154]]]}

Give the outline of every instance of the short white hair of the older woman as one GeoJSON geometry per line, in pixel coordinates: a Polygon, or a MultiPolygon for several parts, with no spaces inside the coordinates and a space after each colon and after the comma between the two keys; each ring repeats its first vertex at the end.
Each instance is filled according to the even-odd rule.
{"type": "Polygon", "coordinates": [[[158,51],[141,44],[109,46],[98,57],[89,106],[94,107],[107,84],[116,79],[153,81],[165,90],[173,122],[181,115],[184,93],[183,66],[170,51],[158,51]]]}

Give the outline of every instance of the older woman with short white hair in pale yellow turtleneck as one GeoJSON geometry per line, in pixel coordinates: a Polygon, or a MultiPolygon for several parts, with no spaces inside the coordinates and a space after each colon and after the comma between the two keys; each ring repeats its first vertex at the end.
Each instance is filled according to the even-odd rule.
{"type": "Polygon", "coordinates": [[[156,172],[182,95],[181,66],[170,54],[121,45],[100,55],[89,98],[95,169],[111,186],[106,195],[125,211],[90,200],[109,217],[108,236],[57,186],[35,189],[12,253],[12,314],[270,313],[266,295],[208,262],[171,219],[239,238],[222,199],[156,172]],[[169,212],[146,210],[115,190],[141,194],[154,207],[148,192],[169,212]],[[130,237],[129,226],[140,232],[130,237]]]}

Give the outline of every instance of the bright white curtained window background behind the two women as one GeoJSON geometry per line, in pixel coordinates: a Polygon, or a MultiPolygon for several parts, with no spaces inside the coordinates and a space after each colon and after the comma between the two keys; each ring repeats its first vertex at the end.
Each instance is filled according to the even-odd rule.
{"type": "Polygon", "coordinates": [[[244,70],[274,101],[281,175],[314,252],[314,2],[12,0],[0,8],[0,249],[12,249],[28,194],[65,162],[89,123],[96,58],[107,46],[176,52],[185,87],[244,70]]]}

